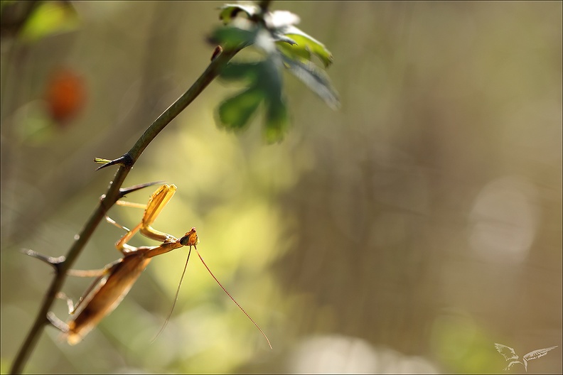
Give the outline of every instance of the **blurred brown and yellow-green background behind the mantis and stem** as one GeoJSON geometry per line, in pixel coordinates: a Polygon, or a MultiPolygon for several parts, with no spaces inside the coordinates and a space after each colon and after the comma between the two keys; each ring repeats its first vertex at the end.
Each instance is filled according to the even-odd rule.
{"type": "MultiPolygon", "coordinates": [[[[116,158],[208,65],[221,2],[77,2],[74,21],[1,45],[1,370],[116,158]],[[53,97],[63,92],[62,102],[53,97]]],[[[292,128],[218,129],[213,82],[125,185],[166,180],[155,227],[198,228],[70,347],[48,327],[28,372],[497,373],[494,342],[562,372],[562,3],[274,2],[326,44],[342,108],[286,75],[292,128]]],[[[4,10],[3,10],[4,12],[4,10]]],[[[73,18],[74,20],[74,18],[73,18]]],[[[128,197],[145,203],[151,189],[128,197]]],[[[114,207],[125,226],[141,211],[114,207]]],[[[102,223],[75,268],[119,257],[102,223]]],[[[151,244],[135,238],[132,244],[151,244]]],[[[68,278],[75,300],[90,280],[68,278]]],[[[65,303],[55,313],[66,320],[65,303]]],[[[523,367],[515,366],[522,372],[523,367]]]]}

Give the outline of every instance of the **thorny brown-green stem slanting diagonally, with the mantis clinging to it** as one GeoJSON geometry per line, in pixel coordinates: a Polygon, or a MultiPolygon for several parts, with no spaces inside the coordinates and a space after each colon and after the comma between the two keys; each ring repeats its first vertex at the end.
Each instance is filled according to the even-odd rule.
{"type": "Polygon", "coordinates": [[[127,165],[120,165],[114,179],[109,183],[109,187],[105,195],[102,196],[100,204],[97,206],[96,210],[90,216],[85,226],[82,228],[80,234],[75,237],[75,242],[65,257],[65,261],[59,263],[58,272],[55,274],[53,281],[50,283],[47,293],[43,298],[43,303],[41,303],[41,308],[37,314],[36,320],[33,322],[31,330],[29,330],[26,339],[21,344],[21,347],[16,355],[16,359],[11,366],[11,374],[20,374],[28,361],[31,352],[36,347],[37,341],[43,332],[43,328],[48,323],[47,313],[49,312],[56,295],[63,286],[66,278],[67,271],[70,266],[73,265],[78,255],[84,248],[87,241],[94,233],[98,224],[104,219],[105,213],[111,208],[117,200],[121,197],[119,189],[122,187],[125,178],[129,174],[129,170],[133,167],[134,163],[137,161],[144,149],[149,146],[149,143],[168,125],[178,114],[180,114],[183,109],[186,109],[188,105],[193,102],[193,100],[198,97],[198,95],[203,92],[203,89],[207,87],[211,81],[215,79],[222,70],[227,62],[235,56],[242,48],[235,48],[232,50],[223,50],[223,52],[218,55],[215,60],[213,60],[208,68],[203,72],[202,75],[194,82],[194,84],[186,91],[181,97],[179,97],[176,102],[174,102],[166,111],[164,111],[143,135],[139,138],[134,146],[127,152],[129,160],[131,163],[127,165]]]}

